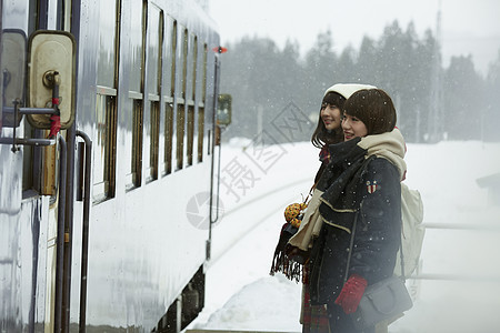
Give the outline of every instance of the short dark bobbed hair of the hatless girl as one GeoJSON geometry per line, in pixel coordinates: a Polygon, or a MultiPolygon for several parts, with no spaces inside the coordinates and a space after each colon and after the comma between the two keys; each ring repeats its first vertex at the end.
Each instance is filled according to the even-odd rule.
{"type": "Polygon", "coordinates": [[[367,135],[390,132],[396,127],[394,104],[381,89],[362,89],[354,92],[346,101],[343,110],[364,123],[367,135]]]}

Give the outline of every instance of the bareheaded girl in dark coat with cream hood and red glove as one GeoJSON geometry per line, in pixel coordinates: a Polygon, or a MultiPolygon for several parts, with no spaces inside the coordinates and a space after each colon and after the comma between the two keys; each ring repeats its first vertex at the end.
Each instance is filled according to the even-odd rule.
{"type": "Polygon", "coordinates": [[[346,141],[329,147],[334,159],[314,191],[318,204],[312,204],[312,216],[291,240],[303,246],[319,230],[311,244],[309,291],[312,304],[327,304],[331,332],[358,332],[349,314],[356,312],[367,285],[391,276],[394,270],[401,231],[400,181],[406,173],[404,141],[396,120],[393,103],[382,90],[360,90],[346,101],[346,141]],[[346,271],[354,219],[353,253],[346,271]]]}

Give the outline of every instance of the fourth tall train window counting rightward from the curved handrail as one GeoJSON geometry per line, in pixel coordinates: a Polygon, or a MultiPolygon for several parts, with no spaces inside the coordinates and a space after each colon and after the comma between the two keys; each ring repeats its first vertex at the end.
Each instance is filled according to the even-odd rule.
{"type": "Polygon", "coordinates": [[[173,142],[173,97],[176,83],[176,51],[177,51],[177,22],[166,16],[166,33],[164,44],[166,54],[163,65],[163,100],[164,100],[164,152],[163,152],[163,172],[169,174],[172,172],[172,157],[176,147],[173,142]]]}

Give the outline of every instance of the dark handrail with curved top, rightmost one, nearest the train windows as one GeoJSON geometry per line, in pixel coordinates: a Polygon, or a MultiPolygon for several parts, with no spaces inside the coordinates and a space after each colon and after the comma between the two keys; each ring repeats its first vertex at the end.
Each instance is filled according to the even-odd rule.
{"type": "Polygon", "coordinates": [[[80,276],[80,322],[79,332],[86,332],[87,320],[87,271],[89,264],[89,221],[90,221],[90,170],[92,165],[92,141],[84,132],[77,130],[86,145],[84,181],[83,181],[83,222],[81,234],[81,276],[80,276]]]}

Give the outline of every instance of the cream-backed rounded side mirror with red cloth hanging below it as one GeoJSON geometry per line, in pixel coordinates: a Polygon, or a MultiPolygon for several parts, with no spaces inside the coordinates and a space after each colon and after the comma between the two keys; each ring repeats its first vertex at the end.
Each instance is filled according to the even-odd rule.
{"type": "MultiPolygon", "coordinates": [[[[58,99],[61,129],[74,120],[76,41],[71,33],[36,31],[29,40],[28,107],[52,108],[58,99]]],[[[50,114],[28,114],[37,129],[50,129],[50,114]]]]}

